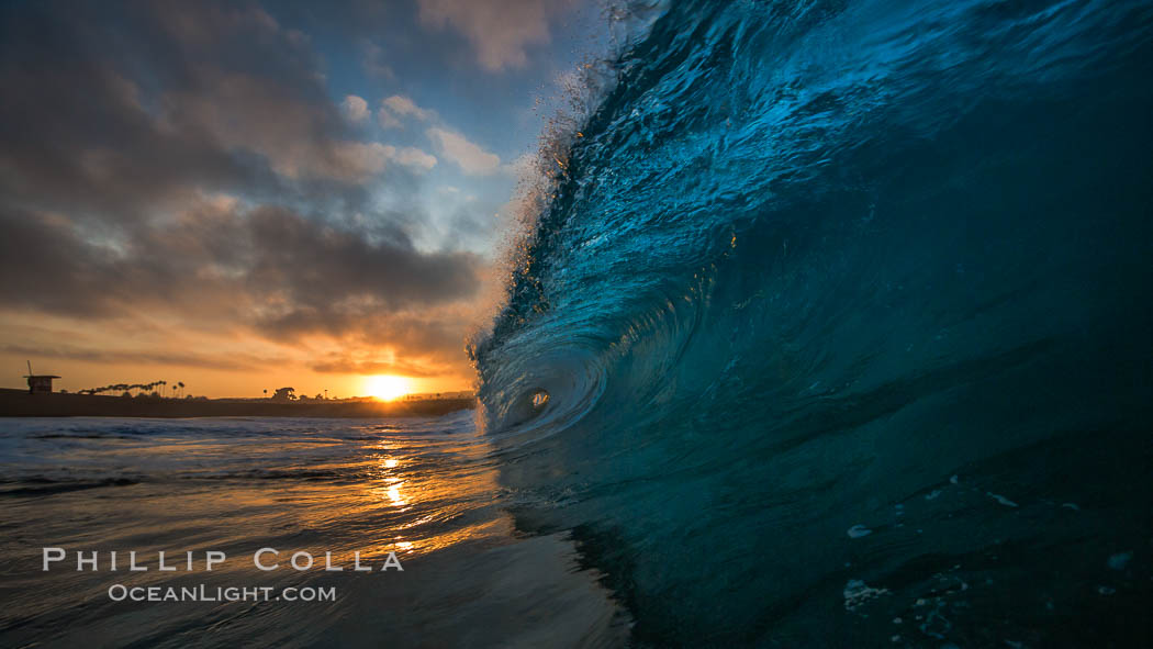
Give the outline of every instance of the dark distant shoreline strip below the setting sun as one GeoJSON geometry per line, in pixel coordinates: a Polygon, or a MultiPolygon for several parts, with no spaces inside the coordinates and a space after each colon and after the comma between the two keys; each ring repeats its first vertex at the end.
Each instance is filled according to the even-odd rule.
{"type": "Polygon", "coordinates": [[[0,388],[0,417],[434,417],[475,407],[475,399],[301,402],[269,399],[29,394],[27,390],[0,388]]]}

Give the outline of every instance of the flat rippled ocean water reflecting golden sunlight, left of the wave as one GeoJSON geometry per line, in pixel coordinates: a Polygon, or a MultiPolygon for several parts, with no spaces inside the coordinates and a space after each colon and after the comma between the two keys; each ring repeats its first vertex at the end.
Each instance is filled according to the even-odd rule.
{"type": "Polygon", "coordinates": [[[0,647],[621,646],[627,612],[572,541],[515,530],[473,415],[0,420],[0,647]],[[68,554],[44,572],[42,548],[68,554]],[[280,567],[255,567],[262,548],[280,567]],[[76,551],[98,551],[98,569],[77,571],[76,551]],[[208,551],[226,556],[211,572],[208,551]],[[311,569],[292,568],[299,551],[311,569]],[[402,571],[380,569],[389,552],[402,571]],[[118,602],[113,587],[218,601],[118,602]]]}

